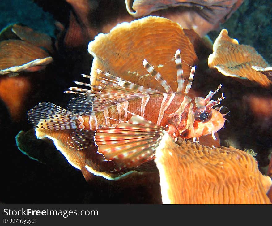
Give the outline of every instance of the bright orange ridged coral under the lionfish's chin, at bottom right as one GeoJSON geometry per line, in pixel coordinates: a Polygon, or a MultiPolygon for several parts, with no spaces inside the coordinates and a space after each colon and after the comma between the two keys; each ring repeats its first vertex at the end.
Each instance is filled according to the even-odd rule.
{"type": "Polygon", "coordinates": [[[244,151],[177,145],[165,134],[155,155],[164,204],[271,204],[271,178],[244,151]]]}

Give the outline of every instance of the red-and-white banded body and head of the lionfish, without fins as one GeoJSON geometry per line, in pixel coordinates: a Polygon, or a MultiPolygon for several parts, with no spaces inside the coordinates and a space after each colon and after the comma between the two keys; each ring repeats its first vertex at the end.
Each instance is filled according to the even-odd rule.
{"type": "Polygon", "coordinates": [[[95,131],[101,125],[116,124],[117,120],[127,121],[134,113],[163,127],[171,127],[173,138],[200,137],[215,133],[225,121],[222,114],[206,108],[203,102],[204,98],[189,98],[182,93],[149,94],[111,105],[96,114],[79,115],[77,128],[95,131]],[[207,112],[210,121],[205,124],[197,113],[192,112],[207,112]]]}

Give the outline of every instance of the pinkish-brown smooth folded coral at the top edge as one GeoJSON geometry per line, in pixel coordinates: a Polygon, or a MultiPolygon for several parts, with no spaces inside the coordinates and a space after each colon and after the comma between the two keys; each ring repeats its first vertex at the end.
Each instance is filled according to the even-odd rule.
{"type": "Polygon", "coordinates": [[[229,18],[243,0],[125,0],[125,3],[127,11],[134,17],[163,16],[204,36],[229,18]]]}

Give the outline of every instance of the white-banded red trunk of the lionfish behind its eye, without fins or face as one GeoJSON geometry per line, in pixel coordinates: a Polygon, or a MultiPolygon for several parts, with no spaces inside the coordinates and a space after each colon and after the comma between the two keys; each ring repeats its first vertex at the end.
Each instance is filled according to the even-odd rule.
{"type": "Polygon", "coordinates": [[[129,120],[132,117],[131,113],[162,126],[168,124],[169,115],[177,114],[178,121],[175,124],[179,124],[183,120],[182,125],[186,127],[188,117],[181,118],[182,114],[188,115],[188,112],[184,111],[193,111],[193,103],[191,98],[183,94],[140,95],[138,98],[129,101],[124,100],[91,115],[79,116],[80,124],[78,128],[96,130],[99,126],[118,124],[120,121],[129,120]]]}

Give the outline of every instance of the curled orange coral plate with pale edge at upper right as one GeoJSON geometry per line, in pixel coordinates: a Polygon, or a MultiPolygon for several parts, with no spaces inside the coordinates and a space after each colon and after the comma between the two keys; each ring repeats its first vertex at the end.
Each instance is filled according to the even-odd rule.
{"type": "Polygon", "coordinates": [[[226,29],[215,40],[213,51],[208,58],[210,68],[240,82],[249,80],[266,88],[271,86],[272,82],[265,75],[252,69],[252,66],[268,67],[268,63],[253,47],[239,45],[236,39],[230,38],[226,29]]]}

